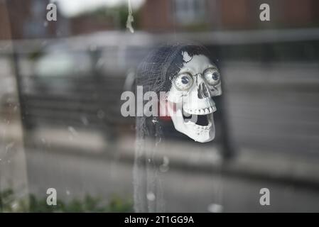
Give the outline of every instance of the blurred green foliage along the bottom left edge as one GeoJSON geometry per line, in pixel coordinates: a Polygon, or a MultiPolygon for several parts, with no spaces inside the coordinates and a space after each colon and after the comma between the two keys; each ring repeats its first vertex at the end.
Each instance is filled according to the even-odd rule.
{"type": "MultiPolygon", "coordinates": [[[[86,195],[84,199],[72,199],[69,202],[57,201],[56,206],[48,206],[46,198],[37,198],[33,194],[29,196],[28,207],[26,202],[18,201],[17,206],[13,207],[13,191],[5,190],[0,194],[0,212],[28,211],[31,213],[84,213],[84,212],[133,212],[131,200],[121,199],[119,196],[112,196],[109,203],[102,204],[101,199],[86,195]]],[[[17,202],[16,202],[17,203],[17,202]]]]}

